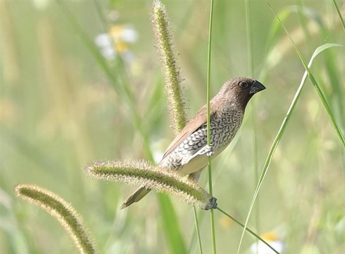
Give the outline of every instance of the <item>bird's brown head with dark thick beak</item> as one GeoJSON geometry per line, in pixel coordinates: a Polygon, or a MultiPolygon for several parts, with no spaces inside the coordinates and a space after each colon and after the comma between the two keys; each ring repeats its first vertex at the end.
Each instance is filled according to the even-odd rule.
{"type": "Polygon", "coordinates": [[[215,98],[220,99],[223,103],[239,103],[244,110],[249,99],[264,89],[266,87],[255,79],[246,77],[233,78],[222,86],[215,98]]]}

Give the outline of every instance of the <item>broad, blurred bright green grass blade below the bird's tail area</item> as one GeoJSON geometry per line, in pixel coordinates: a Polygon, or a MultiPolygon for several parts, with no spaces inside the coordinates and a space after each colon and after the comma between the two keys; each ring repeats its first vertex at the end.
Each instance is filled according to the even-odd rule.
{"type": "Polygon", "coordinates": [[[178,220],[173,204],[170,201],[170,198],[162,193],[158,195],[158,199],[170,253],[185,254],[186,247],[178,226],[178,220]]]}

